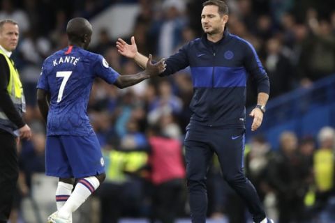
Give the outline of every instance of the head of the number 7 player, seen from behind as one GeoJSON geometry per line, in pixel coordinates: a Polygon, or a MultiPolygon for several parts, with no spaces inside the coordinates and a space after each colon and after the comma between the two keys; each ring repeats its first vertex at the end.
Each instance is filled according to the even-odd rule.
{"type": "Polygon", "coordinates": [[[66,26],[70,45],[78,45],[87,49],[91,42],[92,25],[82,17],[73,18],[66,26]]]}

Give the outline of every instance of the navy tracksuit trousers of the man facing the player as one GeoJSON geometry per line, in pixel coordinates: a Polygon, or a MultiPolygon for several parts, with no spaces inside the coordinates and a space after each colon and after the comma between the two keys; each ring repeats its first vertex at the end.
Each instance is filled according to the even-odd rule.
{"type": "Polygon", "coordinates": [[[255,187],[243,172],[244,129],[190,124],[186,132],[185,147],[186,178],[193,223],[206,222],[206,176],[214,153],[218,155],[223,178],[244,200],[253,215],[253,221],[258,223],[265,218],[255,187]]]}

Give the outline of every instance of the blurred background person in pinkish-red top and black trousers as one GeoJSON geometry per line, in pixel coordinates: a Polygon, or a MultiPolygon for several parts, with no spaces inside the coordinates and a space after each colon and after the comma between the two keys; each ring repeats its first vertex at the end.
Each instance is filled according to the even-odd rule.
{"type": "Polygon", "coordinates": [[[183,208],[185,164],[178,139],[166,137],[155,125],[147,134],[150,180],[153,184],[151,222],[173,223],[183,208]]]}

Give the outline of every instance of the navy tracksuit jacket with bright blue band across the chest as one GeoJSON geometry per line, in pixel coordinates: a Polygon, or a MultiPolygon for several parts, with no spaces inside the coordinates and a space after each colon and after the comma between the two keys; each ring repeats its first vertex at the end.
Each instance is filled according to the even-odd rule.
{"type": "Polygon", "coordinates": [[[225,30],[211,43],[206,36],[184,45],[166,60],[163,75],[190,66],[193,81],[191,123],[244,128],[246,79],[255,80],[258,92],[269,93],[269,78],[253,46],[225,30]]]}

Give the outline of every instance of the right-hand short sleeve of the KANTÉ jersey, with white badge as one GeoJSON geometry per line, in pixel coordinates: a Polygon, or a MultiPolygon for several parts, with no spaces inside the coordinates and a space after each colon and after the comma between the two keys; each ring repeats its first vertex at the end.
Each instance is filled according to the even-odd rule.
{"type": "Polygon", "coordinates": [[[105,80],[108,84],[114,84],[119,77],[119,73],[112,69],[101,55],[98,55],[94,61],[93,70],[97,77],[105,80]]]}

